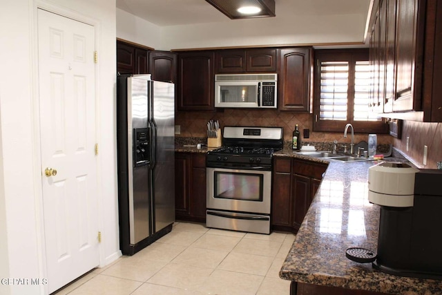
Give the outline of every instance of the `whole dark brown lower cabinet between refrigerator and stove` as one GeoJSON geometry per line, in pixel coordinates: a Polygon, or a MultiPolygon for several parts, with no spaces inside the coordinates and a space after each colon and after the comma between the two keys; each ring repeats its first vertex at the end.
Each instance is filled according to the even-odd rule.
{"type": "Polygon", "coordinates": [[[206,155],[175,153],[175,219],[206,222],[206,155]]]}

